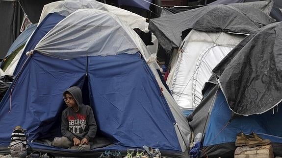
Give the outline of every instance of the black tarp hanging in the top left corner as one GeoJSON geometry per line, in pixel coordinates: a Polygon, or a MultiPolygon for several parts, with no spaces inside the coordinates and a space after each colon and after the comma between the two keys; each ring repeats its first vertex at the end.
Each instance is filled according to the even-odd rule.
{"type": "Polygon", "coordinates": [[[0,0],[0,59],[19,36],[23,15],[16,0],[0,0]]]}

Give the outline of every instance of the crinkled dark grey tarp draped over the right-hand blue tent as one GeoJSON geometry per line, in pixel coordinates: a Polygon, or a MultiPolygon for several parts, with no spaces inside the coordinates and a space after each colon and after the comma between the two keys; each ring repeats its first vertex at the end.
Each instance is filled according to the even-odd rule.
{"type": "Polygon", "coordinates": [[[247,36],[213,69],[231,110],[264,113],[282,101],[282,22],[247,36]]]}

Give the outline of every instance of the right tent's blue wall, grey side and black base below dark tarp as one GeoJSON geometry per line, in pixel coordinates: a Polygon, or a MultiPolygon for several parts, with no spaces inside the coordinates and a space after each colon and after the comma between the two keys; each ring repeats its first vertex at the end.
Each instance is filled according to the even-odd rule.
{"type": "MultiPolygon", "coordinates": [[[[210,85],[211,86],[211,85],[210,85]]],[[[203,136],[203,157],[233,158],[236,149],[236,134],[250,135],[255,132],[263,139],[270,139],[274,154],[281,156],[282,111],[275,108],[262,114],[235,115],[229,108],[219,86],[207,92],[202,103],[189,115],[189,124],[194,135],[203,136]]]]}

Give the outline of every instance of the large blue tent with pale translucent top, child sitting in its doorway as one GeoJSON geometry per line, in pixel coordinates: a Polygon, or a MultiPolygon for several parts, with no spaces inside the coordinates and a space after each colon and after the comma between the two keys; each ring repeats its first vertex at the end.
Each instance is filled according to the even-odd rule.
{"type": "Polygon", "coordinates": [[[98,156],[147,145],[174,158],[188,157],[186,118],[162,85],[156,62],[148,61],[142,40],[116,16],[96,9],[79,9],[66,18],[49,14],[25,52],[28,56],[20,59],[17,78],[0,103],[1,149],[20,125],[32,150],[61,156],[98,156]],[[60,136],[66,108],[62,92],[74,85],[82,89],[98,133],[110,146],[79,152],[35,142],[60,136]]]}

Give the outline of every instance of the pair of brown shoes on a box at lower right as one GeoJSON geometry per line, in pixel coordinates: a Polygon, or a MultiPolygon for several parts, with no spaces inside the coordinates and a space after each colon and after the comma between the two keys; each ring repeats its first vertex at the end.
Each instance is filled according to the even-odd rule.
{"type": "Polygon", "coordinates": [[[262,139],[254,132],[251,135],[244,135],[243,132],[241,132],[237,134],[235,141],[236,146],[249,146],[250,148],[268,144],[270,144],[269,139],[262,139]]]}

